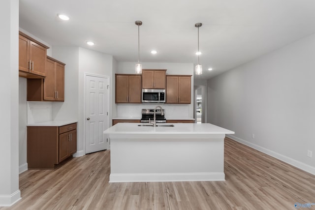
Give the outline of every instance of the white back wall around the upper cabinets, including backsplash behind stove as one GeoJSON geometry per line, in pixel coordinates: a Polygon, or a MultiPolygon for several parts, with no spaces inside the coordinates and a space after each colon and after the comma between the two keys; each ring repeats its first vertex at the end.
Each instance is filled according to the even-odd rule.
{"type": "MultiPolygon", "coordinates": [[[[160,104],[165,109],[165,118],[193,118],[193,63],[154,63],[142,62],[143,69],[167,69],[166,74],[192,75],[190,104],[160,104]]],[[[119,62],[117,73],[134,74],[134,62],[119,62]]],[[[115,99],[115,98],[114,98],[115,99]]],[[[157,104],[117,104],[118,117],[141,118],[141,109],[154,108],[157,104]]]]}

